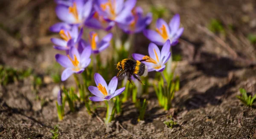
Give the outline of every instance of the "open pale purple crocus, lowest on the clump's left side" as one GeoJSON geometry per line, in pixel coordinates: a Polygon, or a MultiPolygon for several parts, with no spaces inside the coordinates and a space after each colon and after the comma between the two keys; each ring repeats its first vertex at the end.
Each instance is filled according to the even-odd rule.
{"type": "Polygon", "coordinates": [[[69,54],[67,56],[64,56],[62,54],[56,54],[56,61],[61,66],[66,68],[61,74],[61,81],[65,81],[73,73],[82,73],[84,71],[84,68],[86,68],[90,64],[90,55],[90,47],[84,48],[81,54],[79,54],[78,50],[75,47],[70,48],[69,54]]]}

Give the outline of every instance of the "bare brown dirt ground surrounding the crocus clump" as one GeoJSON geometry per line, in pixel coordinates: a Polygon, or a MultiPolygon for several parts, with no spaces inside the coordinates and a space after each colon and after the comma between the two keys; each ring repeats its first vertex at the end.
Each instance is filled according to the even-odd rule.
{"type": "MultiPolygon", "coordinates": [[[[57,124],[59,139],[256,139],[256,106],[249,108],[236,98],[239,88],[256,94],[256,45],[247,40],[248,34],[256,33],[256,1],[137,1],[145,11],[151,5],[168,8],[166,21],[179,13],[185,28],[180,43],[172,48],[173,54],[182,56],[175,71],[180,76],[180,91],[175,94],[173,108],[160,108],[150,89],[148,95],[143,95],[148,99],[145,121],[137,122],[139,113],[127,102],[109,133],[84,106],[79,106],[76,113],[65,111],[64,120],[58,122],[54,90],[75,83],[68,79],[55,84],[47,73],[58,52],[50,42],[58,34],[48,30],[58,22],[54,0],[1,0],[0,65],[32,68],[43,79],[38,96],[46,101],[41,106],[41,101],[35,99],[32,77],[1,85],[1,139],[50,139],[50,130],[57,124]],[[223,23],[225,35],[207,29],[212,19],[223,23]],[[234,29],[228,29],[229,25],[234,29]],[[170,114],[178,124],[172,129],[163,124],[170,114]]],[[[143,34],[136,38],[140,47],[135,51],[147,53],[149,41],[143,34]]],[[[103,119],[105,109],[97,111],[103,119]]]]}

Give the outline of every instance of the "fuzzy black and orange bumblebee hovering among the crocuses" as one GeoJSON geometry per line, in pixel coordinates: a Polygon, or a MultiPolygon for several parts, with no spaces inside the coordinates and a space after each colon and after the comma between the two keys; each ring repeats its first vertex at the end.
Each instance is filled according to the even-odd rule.
{"type": "Polygon", "coordinates": [[[117,74],[118,80],[124,79],[125,75],[129,74],[128,75],[129,82],[131,82],[131,76],[133,76],[140,83],[142,83],[141,80],[136,76],[136,75],[139,75],[139,76],[145,77],[148,75],[148,68],[142,61],[145,61],[145,60],[139,61],[139,60],[132,60],[132,59],[124,59],[118,62],[116,65],[116,69],[119,70],[117,74]]]}

